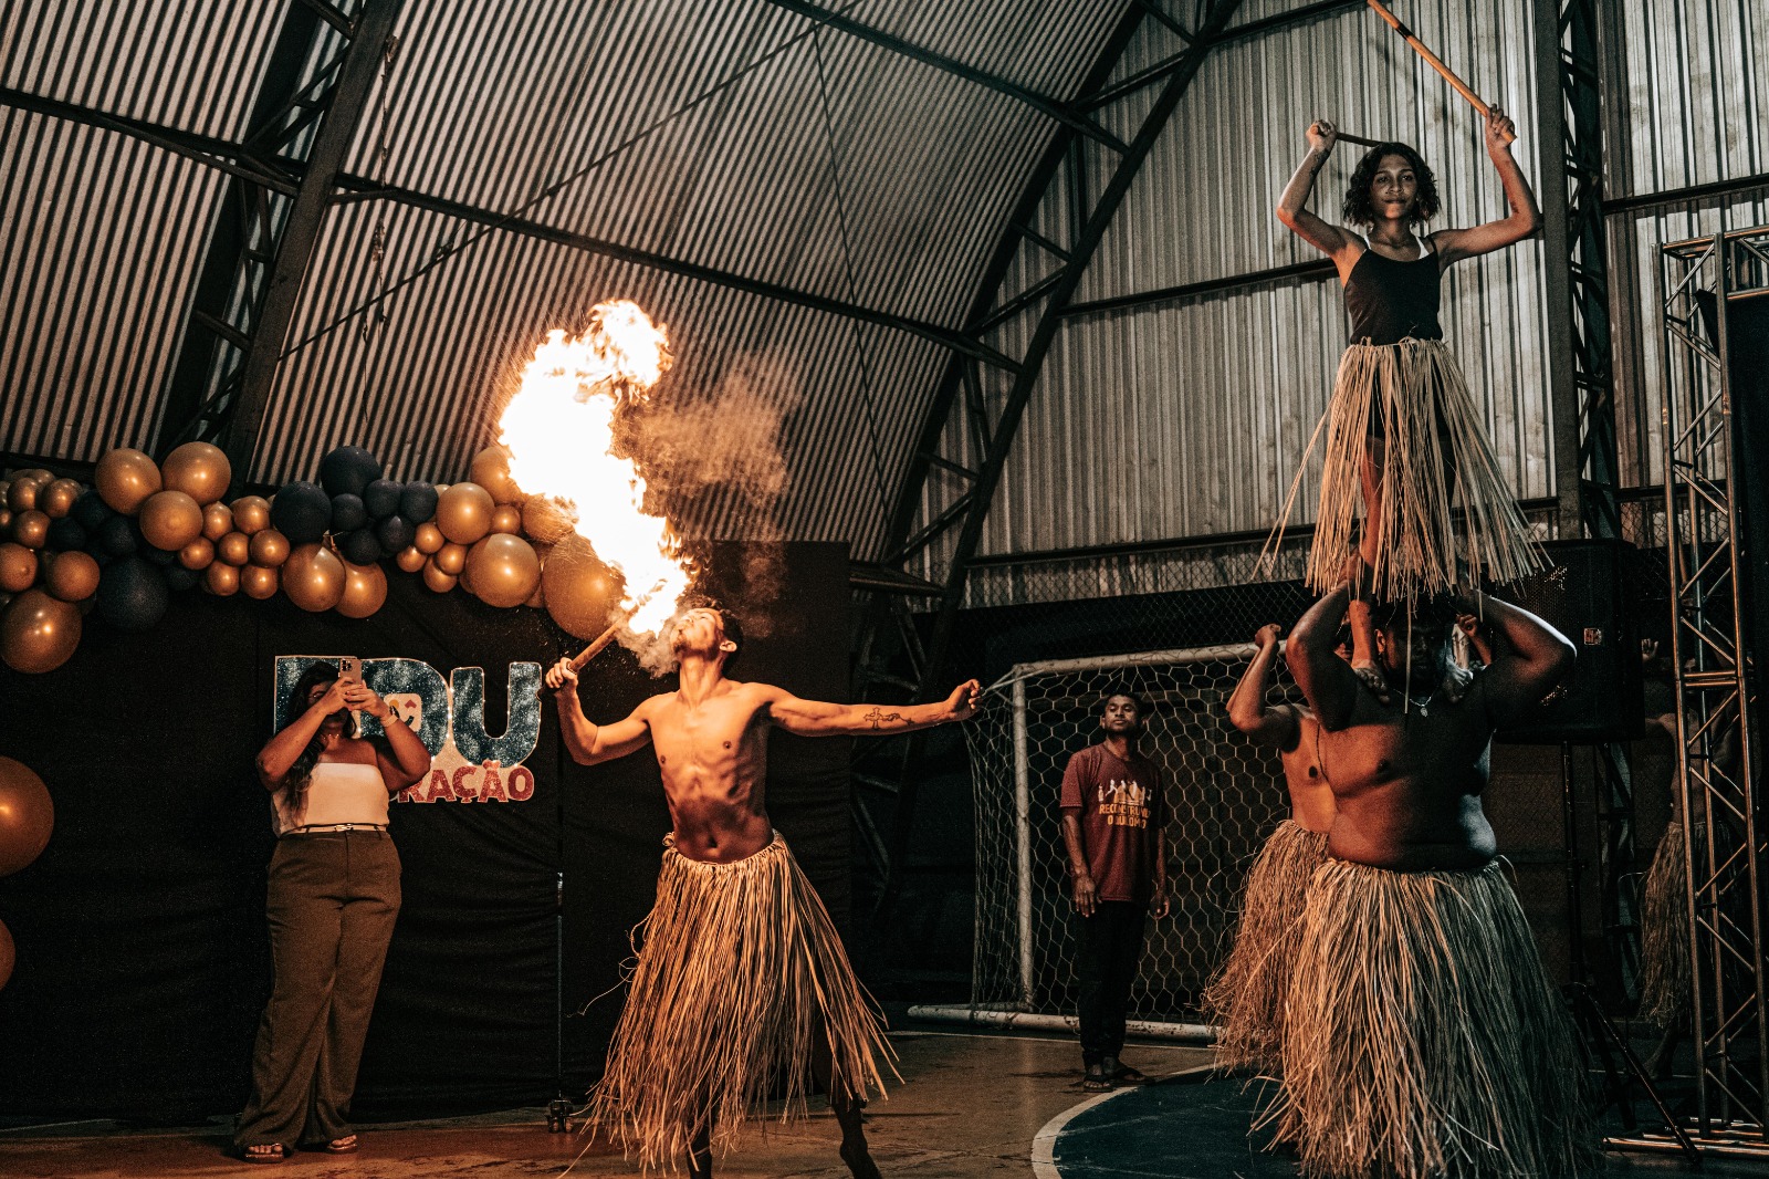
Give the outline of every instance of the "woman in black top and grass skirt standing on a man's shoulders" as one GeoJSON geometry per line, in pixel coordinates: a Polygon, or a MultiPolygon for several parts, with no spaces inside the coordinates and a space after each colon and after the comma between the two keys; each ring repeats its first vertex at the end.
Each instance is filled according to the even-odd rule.
{"type": "Polygon", "coordinates": [[[1336,138],[1327,120],[1309,126],[1309,154],[1277,204],[1277,220],[1339,267],[1352,317],[1350,345],[1327,409],[1307,582],[1316,591],[1336,582],[1362,506],[1352,667],[1387,697],[1375,659],[1373,597],[1477,591],[1482,581],[1511,582],[1544,565],[1438,324],[1444,271],[1534,235],[1541,212],[1511,158],[1516,126],[1497,106],[1486,119],[1486,152],[1511,212],[1474,228],[1422,232],[1438,212],[1436,181],[1405,143],[1371,147],[1352,173],[1343,214],[1362,234],[1309,212],[1304,205],[1314,175],[1336,138]],[[1452,506],[1463,512],[1467,542],[1459,551],[1451,533],[1452,506]]]}

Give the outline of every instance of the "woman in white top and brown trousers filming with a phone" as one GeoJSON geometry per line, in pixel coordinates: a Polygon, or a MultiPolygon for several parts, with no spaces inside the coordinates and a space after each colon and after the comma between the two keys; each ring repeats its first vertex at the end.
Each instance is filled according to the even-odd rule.
{"type": "Polygon", "coordinates": [[[276,828],[267,903],[276,977],[234,1131],[249,1163],[280,1163],[297,1145],[357,1147],[345,1112],[400,915],[387,798],[428,770],[430,751],[363,683],[356,659],[345,674],[329,662],[301,673],[283,726],[258,752],[276,828]],[[380,720],[386,736],[359,736],[352,712],[380,720]]]}

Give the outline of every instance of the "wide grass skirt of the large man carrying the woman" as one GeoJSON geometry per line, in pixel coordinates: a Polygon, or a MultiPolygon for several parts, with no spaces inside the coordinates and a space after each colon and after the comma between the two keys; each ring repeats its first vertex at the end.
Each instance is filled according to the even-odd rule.
{"type": "Polygon", "coordinates": [[[1601,1172],[1583,1050],[1495,860],[1314,875],[1274,1115],[1306,1175],[1601,1172]]]}

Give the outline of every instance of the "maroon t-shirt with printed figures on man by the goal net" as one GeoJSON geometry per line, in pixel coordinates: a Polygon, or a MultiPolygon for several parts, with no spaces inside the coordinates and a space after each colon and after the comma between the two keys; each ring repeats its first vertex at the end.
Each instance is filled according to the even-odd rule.
{"type": "Polygon", "coordinates": [[[1102,901],[1146,905],[1155,892],[1155,834],[1168,821],[1160,770],[1129,761],[1104,742],[1083,749],[1063,770],[1063,811],[1081,813],[1081,852],[1102,901]]]}

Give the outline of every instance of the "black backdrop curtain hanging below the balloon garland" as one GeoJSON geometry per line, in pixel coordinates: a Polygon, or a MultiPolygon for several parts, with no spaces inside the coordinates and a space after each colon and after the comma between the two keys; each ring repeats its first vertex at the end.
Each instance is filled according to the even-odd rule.
{"type": "MultiPolygon", "coordinates": [[[[711,545],[708,588],[743,616],[732,676],[807,697],[847,690],[846,545],[711,545]]],[[[271,733],[278,655],[403,657],[444,678],[485,667],[486,731],[509,664],[580,643],[543,611],[497,611],[394,575],[370,620],[285,598],[175,595],[152,632],[87,630],[64,667],[0,667],[0,754],[55,800],[48,850],[0,878],[18,944],[0,990],[0,1110],[175,1121],[237,1110],[269,995],[269,800],[251,768],[271,733]]],[[[674,687],[610,648],[580,683],[591,719],[674,687]]],[[[775,735],[770,813],[846,921],[847,742],[775,735]]],[[[552,705],[524,802],[394,804],[405,906],[375,1006],[357,1115],[545,1101],[555,1085],[555,905],[564,875],[568,1092],[601,1069],[628,931],[651,905],[669,813],[649,752],[563,756],[552,705]],[[578,1014],[582,1011],[582,1014],[578,1014]]]]}

